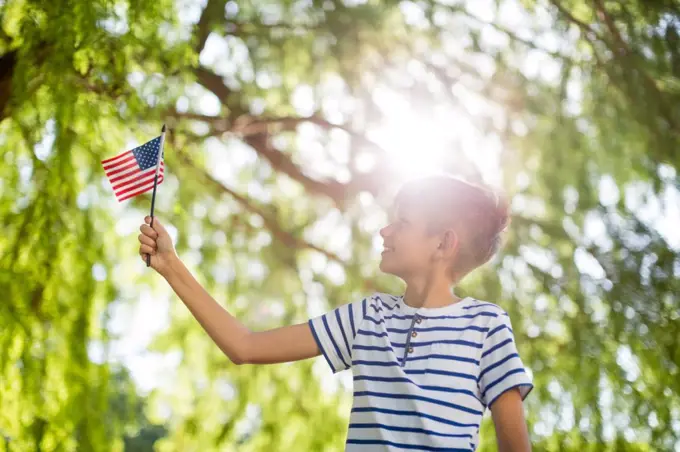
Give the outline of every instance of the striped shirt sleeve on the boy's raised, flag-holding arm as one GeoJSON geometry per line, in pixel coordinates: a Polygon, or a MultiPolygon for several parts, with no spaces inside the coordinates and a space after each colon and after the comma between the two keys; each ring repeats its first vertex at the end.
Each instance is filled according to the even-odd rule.
{"type": "Polygon", "coordinates": [[[333,373],[352,366],[352,344],[367,307],[368,299],[364,298],[309,320],[314,339],[333,373]]]}

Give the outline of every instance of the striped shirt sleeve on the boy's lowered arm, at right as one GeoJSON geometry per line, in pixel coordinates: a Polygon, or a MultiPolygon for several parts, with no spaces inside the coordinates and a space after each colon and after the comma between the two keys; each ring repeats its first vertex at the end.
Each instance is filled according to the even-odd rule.
{"type": "Polygon", "coordinates": [[[534,387],[517,352],[510,317],[505,313],[491,323],[484,340],[478,384],[482,402],[488,407],[513,388],[519,388],[524,400],[534,387]]]}

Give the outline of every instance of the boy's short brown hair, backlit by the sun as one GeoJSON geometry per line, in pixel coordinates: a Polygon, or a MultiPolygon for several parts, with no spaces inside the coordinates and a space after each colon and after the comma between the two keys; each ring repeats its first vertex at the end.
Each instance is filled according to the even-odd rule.
{"type": "Polygon", "coordinates": [[[509,205],[501,193],[447,175],[406,183],[397,194],[396,207],[424,214],[433,233],[446,228],[456,232],[458,253],[451,272],[457,278],[498,252],[501,233],[510,223],[509,205]]]}

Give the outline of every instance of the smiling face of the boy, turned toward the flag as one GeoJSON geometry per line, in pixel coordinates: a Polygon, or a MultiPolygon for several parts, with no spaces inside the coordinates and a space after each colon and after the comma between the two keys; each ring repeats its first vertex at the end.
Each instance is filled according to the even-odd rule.
{"type": "Polygon", "coordinates": [[[437,234],[428,231],[425,215],[417,209],[397,207],[390,224],[380,230],[384,251],[380,270],[404,281],[428,273],[440,243],[437,234]]]}

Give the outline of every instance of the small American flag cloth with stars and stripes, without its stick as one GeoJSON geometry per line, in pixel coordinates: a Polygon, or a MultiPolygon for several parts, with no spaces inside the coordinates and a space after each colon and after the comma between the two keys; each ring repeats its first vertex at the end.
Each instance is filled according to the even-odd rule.
{"type": "MultiPolygon", "coordinates": [[[[156,137],[131,151],[102,161],[106,177],[119,202],[153,189],[160,146],[161,137],[156,137]]],[[[161,159],[159,184],[163,182],[163,170],[161,159]]]]}

